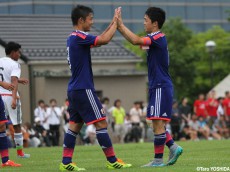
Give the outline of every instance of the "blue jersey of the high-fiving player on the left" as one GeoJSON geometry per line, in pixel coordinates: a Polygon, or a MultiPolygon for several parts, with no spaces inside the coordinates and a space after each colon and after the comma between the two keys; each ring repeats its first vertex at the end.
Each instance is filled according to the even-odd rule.
{"type": "Polygon", "coordinates": [[[90,47],[96,45],[97,36],[82,31],[72,32],[67,39],[68,63],[71,78],[68,91],[94,89],[90,47]]]}

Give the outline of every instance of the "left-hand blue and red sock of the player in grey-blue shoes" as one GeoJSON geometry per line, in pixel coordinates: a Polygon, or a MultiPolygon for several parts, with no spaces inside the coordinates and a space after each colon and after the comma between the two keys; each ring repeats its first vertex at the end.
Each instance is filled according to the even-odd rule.
{"type": "Polygon", "coordinates": [[[154,158],[158,158],[158,159],[163,158],[165,141],[166,141],[165,133],[154,135],[154,151],[155,151],[154,158]]]}

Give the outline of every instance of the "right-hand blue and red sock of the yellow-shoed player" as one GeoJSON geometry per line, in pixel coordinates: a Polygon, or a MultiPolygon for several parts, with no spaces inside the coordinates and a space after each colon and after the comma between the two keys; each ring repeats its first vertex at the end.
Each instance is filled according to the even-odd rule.
{"type": "Polygon", "coordinates": [[[96,130],[97,140],[99,145],[101,146],[107,160],[110,163],[114,163],[117,161],[117,158],[115,156],[112,142],[110,140],[110,137],[108,135],[107,128],[101,128],[99,130],[96,130]]]}

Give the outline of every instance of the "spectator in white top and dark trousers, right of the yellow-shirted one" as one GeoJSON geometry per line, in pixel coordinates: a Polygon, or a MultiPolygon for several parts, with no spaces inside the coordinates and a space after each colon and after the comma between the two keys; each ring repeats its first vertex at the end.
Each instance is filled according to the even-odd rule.
{"type": "Polygon", "coordinates": [[[136,142],[139,142],[142,138],[142,128],[140,124],[141,117],[143,116],[141,105],[139,102],[134,102],[133,107],[130,109],[129,115],[132,123],[133,139],[135,139],[136,142]]]}

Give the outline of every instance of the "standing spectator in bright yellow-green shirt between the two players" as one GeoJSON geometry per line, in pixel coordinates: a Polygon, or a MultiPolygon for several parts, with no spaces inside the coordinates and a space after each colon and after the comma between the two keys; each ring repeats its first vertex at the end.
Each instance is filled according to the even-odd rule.
{"type": "Polygon", "coordinates": [[[112,112],[113,118],[114,118],[114,122],[115,122],[115,134],[118,138],[118,141],[120,143],[124,142],[124,138],[125,138],[125,109],[121,106],[121,100],[117,99],[114,102],[114,109],[112,112]]]}

